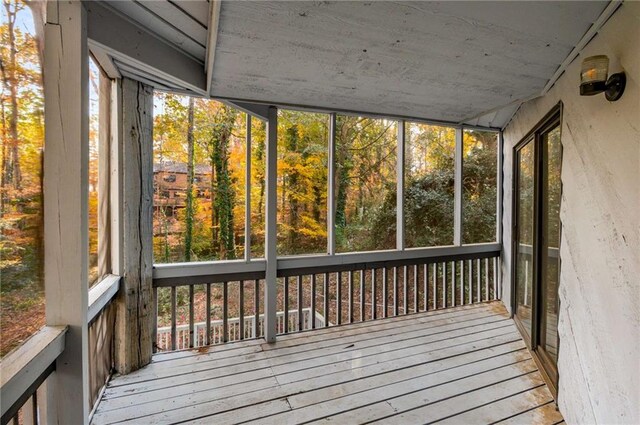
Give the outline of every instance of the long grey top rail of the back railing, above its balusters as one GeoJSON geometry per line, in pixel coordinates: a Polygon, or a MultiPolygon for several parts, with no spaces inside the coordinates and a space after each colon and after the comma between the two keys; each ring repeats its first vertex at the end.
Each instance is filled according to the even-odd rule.
{"type": "MultiPolygon", "coordinates": [[[[335,255],[281,257],[278,259],[278,277],[393,267],[424,262],[489,258],[499,254],[499,243],[484,243],[335,255]]],[[[153,268],[153,285],[167,287],[263,279],[265,267],[264,259],[156,264],[153,268]]]]}

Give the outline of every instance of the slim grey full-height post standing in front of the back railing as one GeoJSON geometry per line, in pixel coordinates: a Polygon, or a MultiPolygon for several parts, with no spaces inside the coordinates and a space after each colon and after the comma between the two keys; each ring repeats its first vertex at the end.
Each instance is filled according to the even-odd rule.
{"type": "Polygon", "coordinates": [[[267,122],[267,205],[265,218],[265,252],[266,261],[264,285],[264,337],[267,342],[276,341],[277,312],[277,161],[278,161],[278,109],[269,107],[267,122]]]}

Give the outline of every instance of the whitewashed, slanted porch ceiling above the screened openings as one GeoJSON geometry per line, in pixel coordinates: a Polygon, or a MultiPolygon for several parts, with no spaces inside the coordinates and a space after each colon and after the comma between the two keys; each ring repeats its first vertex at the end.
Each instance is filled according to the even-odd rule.
{"type": "MultiPolygon", "coordinates": [[[[224,1],[210,94],[501,127],[607,4],[224,1]]],[[[110,5],[204,63],[206,1],[110,5]]]]}

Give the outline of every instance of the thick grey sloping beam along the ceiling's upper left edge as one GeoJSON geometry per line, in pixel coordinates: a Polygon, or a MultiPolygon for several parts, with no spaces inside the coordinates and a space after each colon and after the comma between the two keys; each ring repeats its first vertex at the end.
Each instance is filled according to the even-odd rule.
{"type": "Polygon", "coordinates": [[[202,62],[176,50],[147,30],[98,2],[84,3],[89,48],[147,75],[157,75],[175,89],[208,96],[202,62]]]}

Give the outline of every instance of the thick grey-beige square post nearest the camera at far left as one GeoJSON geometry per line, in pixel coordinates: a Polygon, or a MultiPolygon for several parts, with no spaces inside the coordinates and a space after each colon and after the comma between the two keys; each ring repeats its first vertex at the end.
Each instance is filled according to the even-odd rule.
{"type": "Polygon", "coordinates": [[[46,323],[69,325],[47,391],[48,423],[87,423],[89,58],[79,1],[47,4],[44,245],[46,323]]]}

